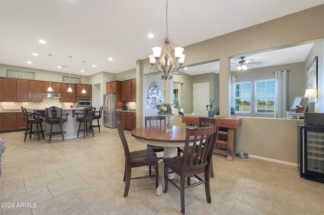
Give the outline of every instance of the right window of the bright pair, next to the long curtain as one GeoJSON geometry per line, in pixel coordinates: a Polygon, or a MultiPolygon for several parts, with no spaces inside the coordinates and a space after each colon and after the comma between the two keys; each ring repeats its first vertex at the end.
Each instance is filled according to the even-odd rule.
{"type": "Polygon", "coordinates": [[[255,82],[255,113],[274,113],[275,80],[255,82]]]}

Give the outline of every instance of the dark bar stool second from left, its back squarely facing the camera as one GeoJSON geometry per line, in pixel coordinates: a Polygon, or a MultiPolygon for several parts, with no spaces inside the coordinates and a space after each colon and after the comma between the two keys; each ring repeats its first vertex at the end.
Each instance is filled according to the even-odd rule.
{"type": "Polygon", "coordinates": [[[51,106],[51,108],[45,109],[45,121],[51,125],[50,132],[47,133],[49,135],[49,143],[51,143],[53,135],[62,135],[62,140],[64,142],[64,134],[66,133],[63,131],[63,123],[67,122],[68,114],[62,114],[63,109],[58,108],[56,106],[51,106]],[[65,115],[65,119],[62,116],[65,115]],[[61,131],[54,131],[53,132],[53,125],[60,125],[61,131]]]}

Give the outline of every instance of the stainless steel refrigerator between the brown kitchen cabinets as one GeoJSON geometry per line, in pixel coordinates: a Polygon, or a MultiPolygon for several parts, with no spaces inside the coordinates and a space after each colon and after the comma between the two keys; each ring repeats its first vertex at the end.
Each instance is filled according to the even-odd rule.
{"type": "Polygon", "coordinates": [[[116,94],[103,95],[103,126],[116,128],[116,94]]]}

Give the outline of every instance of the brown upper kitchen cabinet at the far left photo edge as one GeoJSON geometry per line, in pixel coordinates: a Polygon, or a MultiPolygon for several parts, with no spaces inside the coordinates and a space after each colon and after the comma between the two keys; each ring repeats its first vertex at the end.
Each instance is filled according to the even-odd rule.
{"type": "Polygon", "coordinates": [[[16,101],[16,81],[14,78],[0,78],[0,101],[16,101]]]}

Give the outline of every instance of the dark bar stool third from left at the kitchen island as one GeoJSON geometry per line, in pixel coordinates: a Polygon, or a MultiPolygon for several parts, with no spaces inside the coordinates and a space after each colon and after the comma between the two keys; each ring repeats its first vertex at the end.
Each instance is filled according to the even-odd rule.
{"type": "Polygon", "coordinates": [[[80,131],[83,132],[83,138],[86,138],[86,134],[88,136],[88,131],[92,132],[93,137],[95,136],[93,133],[93,126],[92,126],[92,121],[94,119],[95,112],[96,112],[96,108],[90,106],[84,109],[84,113],[75,113],[76,120],[79,121],[79,129],[77,130],[77,137],[79,137],[80,131]],[[78,115],[83,115],[83,117],[79,117],[78,115]],[[89,128],[88,128],[88,123],[90,123],[89,128]],[[83,129],[81,129],[81,124],[83,124],[83,129]]]}

